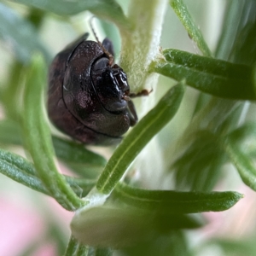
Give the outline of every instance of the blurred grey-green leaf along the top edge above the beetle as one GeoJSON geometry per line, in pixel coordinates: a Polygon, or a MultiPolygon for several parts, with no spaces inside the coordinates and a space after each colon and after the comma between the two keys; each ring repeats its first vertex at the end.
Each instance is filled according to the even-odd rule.
{"type": "Polygon", "coordinates": [[[57,15],[76,15],[85,10],[89,10],[99,18],[113,21],[117,26],[128,29],[130,23],[126,19],[123,10],[114,0],[12,0],[15,3],[22,3],[30,7],[44,9],[57,15]]]}

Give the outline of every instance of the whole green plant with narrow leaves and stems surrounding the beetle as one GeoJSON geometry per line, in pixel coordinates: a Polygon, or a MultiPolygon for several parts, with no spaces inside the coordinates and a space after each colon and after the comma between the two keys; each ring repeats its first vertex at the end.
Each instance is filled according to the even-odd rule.
{"type": "Polygon", "coordinates": [[[226,164],[235,166],[242,182],[256,190],[256,2],[224,1],[215,50],[193,19],[207,10],[196,13],[189,4],[185,0],[0,3],[4,51],[0,172],[74,212],[67,245],[67,237],[37,202],[46,232],[21,254],[35,254],[50,240],[60,255],[67,245],[65,256],[194,256],[212,245],[225,255],[255,255],[253,239],[205,239],[195,245],[188,230],[194,236],[195,229],[200,232],[207,224],[208,215],[201,212],[239,206],[243,195],[225,191],[230,190],[225,189],[225,178],[233,178],[223,172],[226,164]],[[164,19],[167,8],[174,11],[167,15],[180,20],[202,55],[172,49],[172,43],[159,48],[162,23],[170,18],[164,19]],[[102,40],[105,32],[113,40],[131,92],[154,89],[147,98],[134,100],[137,125],[104,154],[102,148],[54,135],[45,107],[47,69],[53,57],[49,45],[61,42],[60,32],[49,37],[48,30],[67,26],[67,32],[82,34],[81,20],[91,15],[101,19],[94,22],[98,37],[102,40]],[[166,79],[157,87],[159,74],[166,79]],[[173,80],[176,85],[170,88],[173,80]],[[185,90],[186,85],[195,90],[185,90]],[[160,100],[154,101],[155,96],[160,100]],[[26,157],[21,156],[24,152],[26,157]],[[61,174],[56,159],[72,174],[61,174]],[[221,192],[216,191],[219,188],[221,192]]]}

